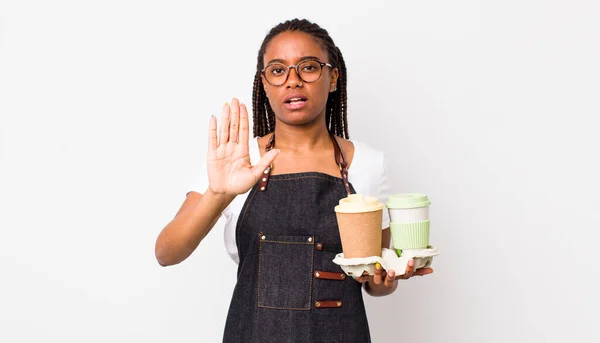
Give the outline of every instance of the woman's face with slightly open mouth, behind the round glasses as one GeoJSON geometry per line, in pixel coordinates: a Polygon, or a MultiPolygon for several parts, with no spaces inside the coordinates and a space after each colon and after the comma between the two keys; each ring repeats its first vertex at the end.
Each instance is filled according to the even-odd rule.
{"type": "MultiPolygon", "coordinates": [[[[331,63],[314,37],[304,32],[286,31],[269,42],[263,62],[265,66],[274,62],[290,66],[315,59],[331,63]]],[[[311,68],[304,69],[308,73],[311,68]]],[[[281,72],[274,70],[271,75],[281,72]]],[[[288,78],[281,86],[271,85],[265,75],[262,76],[262,83],[277,119],[288,125],[303,125],[324,118],[327,97],[335,89],[337,79],[337,69],[323,66],[321,77],[315,82],[303,81],[296,70],[289,68],[288,78]]]]}

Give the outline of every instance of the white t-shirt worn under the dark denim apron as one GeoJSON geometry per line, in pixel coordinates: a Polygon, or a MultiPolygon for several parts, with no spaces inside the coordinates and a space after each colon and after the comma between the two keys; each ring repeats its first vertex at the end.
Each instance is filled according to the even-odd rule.
{"type": "MultiPolygon", "coordinates": [[[[351,141],[354,144],[354,157],[348,169],[348,180],[357,194],[374,196],[385,204],[390,193],[390,184],[387,174],[387,164],[383,152],[375,150],[367,144],[351,141]]],[[[256,165],[260,160],[258,138],[250,141],[248,152],[250,163],[256,165]]],[[[190,191],[204,193],[208,189],[208,175],[206,165],[199,178],[192,182],[190,191]]],[[[239,255],[235,242],[235,229],[238,217],[250,191],[240,194],[225,208],[221,216],[225,219],[225,248],[231,259],[239,263],[239,255]]],[[[382,229],[390,226],[387,211],[383,212],[382,229]]]]}

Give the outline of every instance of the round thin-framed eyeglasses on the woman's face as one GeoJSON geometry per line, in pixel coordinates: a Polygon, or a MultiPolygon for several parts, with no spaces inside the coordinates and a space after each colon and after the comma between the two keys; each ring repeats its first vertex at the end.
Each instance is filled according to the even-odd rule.
{"type": "Polygon", "coordinates": [[[323,73],[323,67],[333,68],[329,63],[323,63],[318,60],[302,61],[296,65],[286,66],[283,63],[272,63],[267,65],[261,73],[272,86],[281,86],[287,82],[290,76],[290,69],[295,69],[296,74],[306,83],[316,82],[323,73]]]}

